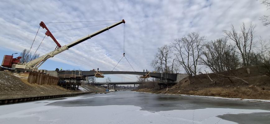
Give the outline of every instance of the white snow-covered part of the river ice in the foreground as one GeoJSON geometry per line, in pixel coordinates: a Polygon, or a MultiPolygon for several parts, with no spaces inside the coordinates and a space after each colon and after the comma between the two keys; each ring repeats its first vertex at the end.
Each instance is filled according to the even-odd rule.
{"type": "MultiPolygon", "coordinates": [[[[64,101],[95,99],[91,97],[67,97],[64,101]]],[[[114,95],[108,95],[114,96],[114,95]]],[[[134,105],[61,107],[47,105],[55,101],[40,100],[0,106],[0,124],[237,124],[221,119],[226,114],[263,113],[258,109],[203,108],[149,112],[134,105]]],[[[268,121],[266,121],[268,122],[268,121]]],[[[264,123],[264,122],[263,122],[264,123]]]]}

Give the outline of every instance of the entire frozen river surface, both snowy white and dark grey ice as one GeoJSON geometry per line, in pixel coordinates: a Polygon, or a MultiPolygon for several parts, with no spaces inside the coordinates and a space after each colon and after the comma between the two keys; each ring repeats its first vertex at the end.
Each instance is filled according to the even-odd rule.
{"type": "Polygon", "coordinates": [[[0,124],[270,124],[270,103],[133,91],[0,106],[0,124]]]}

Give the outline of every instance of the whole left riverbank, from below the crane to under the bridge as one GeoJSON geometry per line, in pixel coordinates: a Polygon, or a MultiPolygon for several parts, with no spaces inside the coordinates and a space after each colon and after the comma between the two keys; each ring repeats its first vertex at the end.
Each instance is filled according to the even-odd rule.
{"type": "Polygon", "coordinates": [[[102,92],[106,88],[83,84],[80,90],[67,90],[57,85],[38,85],[27,82],[28,74],[0,71],[0,97],[7,95],[47,95],[102,92]]]}

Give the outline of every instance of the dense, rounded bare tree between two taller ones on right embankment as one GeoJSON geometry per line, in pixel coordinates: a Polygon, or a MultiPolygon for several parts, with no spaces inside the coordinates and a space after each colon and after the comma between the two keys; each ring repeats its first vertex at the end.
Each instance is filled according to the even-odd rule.
{"type": "Polygon", "coordinates": [[[201,63],[208,66],[214,73],[237,69],[241,66],[235,48],[227,45],[227,41],[227,38],[220,38],[205,45],[201,63]]]}

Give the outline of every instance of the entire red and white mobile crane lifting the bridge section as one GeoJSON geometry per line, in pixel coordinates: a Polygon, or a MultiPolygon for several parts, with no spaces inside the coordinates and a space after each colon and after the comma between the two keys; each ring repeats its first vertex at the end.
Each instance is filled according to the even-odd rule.
{"type": "Polygon", "coordinates": [[[103,33],[105,32],[106,30],[109,30],[119,24],[122,24],[122,23],[125,23],[125,20],[121,20],[119,22],[116,22],[110,26],[106,26],[105,28],[103,29],[100,29],[99,31],[96,31],[92,34],[89,34],[81,39],[78,39],[74,42],[71,42],[65,46],[61,46],[56,40],[55,38],[53,37],[53,35],[50,33],[49,29],[47,29],[47,27],[45,26],[45,24],[43,22],[40,23],[40,26],[42,28],[45,28],[47,29],[47,32],[45,33],[47,36],[50,36],[54,42],[57,44],[57,47],[55,50],[45,54],[45,55],[42,55],[41,57],[35,59],[35,60],[32,60],[30,62],[27,62],[27,63],[20,63],[19,59],[21,57],[17,57],[17,58],[13,58],[12,55],[4,55],[4,59],[2,61],[2,66],[3,67],[6,67],[6,68],[12,68],[12,69],[22,69],[22,70],[33,70],[33,71],[36,71],[47,59],[51,58],[51,57],[54,57],[54,55],[57,55],[65,50],[68,50],[69,48],[81,43],[81,42],[84,42],[86,41],[87,39],[90,39],[100,33],[103,33]]]}

